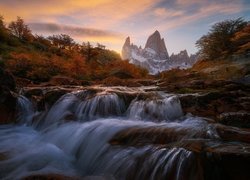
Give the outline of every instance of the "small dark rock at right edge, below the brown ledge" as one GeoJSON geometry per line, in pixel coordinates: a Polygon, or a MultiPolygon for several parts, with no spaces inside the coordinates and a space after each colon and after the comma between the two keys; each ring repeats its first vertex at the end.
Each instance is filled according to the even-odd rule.
{"type": "Polygon", "coordinates": [[[218,122],[228,126],[239,128],[250,128],[250,113],[229,112],[219,115],[218,122]]]}

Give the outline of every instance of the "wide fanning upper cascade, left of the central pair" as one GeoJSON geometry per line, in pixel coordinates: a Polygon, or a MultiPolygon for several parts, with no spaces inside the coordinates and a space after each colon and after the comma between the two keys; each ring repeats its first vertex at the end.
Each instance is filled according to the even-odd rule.
{"type": "Polygon", "coordinates": [[[122,116],[124,101],[115,93],[76,91],[62,96],[35,126],[43,129],[67,121],[122,116]]]}

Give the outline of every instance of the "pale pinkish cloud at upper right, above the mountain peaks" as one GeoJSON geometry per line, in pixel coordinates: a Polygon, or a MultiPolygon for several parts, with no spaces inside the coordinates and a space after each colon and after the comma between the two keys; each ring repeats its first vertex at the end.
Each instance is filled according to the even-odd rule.
{"type": "Polygon", "coordinates": [[[185,3],[183,1],[177,1],[177,7],[172,8],[176,9],[177,12],[180,12],[181,15],[175,16],[173,14],[171,16],[171,13],[167,13],[167,10],[163,10],[162,8],[158,8],[158,11],[156,11],[158,12],[158,15],[161,15],[162,18],[167,22],[158,26],[160,30],[174,29],[213,16],[226,16],[239,13],[244,9],[244,6],[242,3],[231,2],[228,0],[221,0],[216,2],[208,0],[191,0],[188,2],[185,1],[185,3]],[[193,4],[196,4],[195,10],[186,7],[193,4]]]}

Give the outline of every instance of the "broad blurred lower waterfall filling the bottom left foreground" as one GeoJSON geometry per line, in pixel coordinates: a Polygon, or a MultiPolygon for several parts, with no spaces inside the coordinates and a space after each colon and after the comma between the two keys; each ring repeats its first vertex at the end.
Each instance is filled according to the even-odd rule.
{"type": "Polygon", "coordinates": [[[31,127],[14,127],[12,131],[2,129],[0,147],[4,147],[1,151],[8,152],[9,157],[0,161],[0,172],[4,172],[7,179],[51,172],[77,176],[105,174],[117,179],[138,180],[172,176],[176,176],[173,179],[185,179],[178,177],[183,174],[194,177],[192,173],[199,170],[198,162],[192,152],[183,148],[153,145],[124,148],[109,144],[121,130],[156,126],[168,125],[107,119],[62,124],[46,133],[31,127]],[[190,164],[194,169],[190,170],[190,164]]]}

